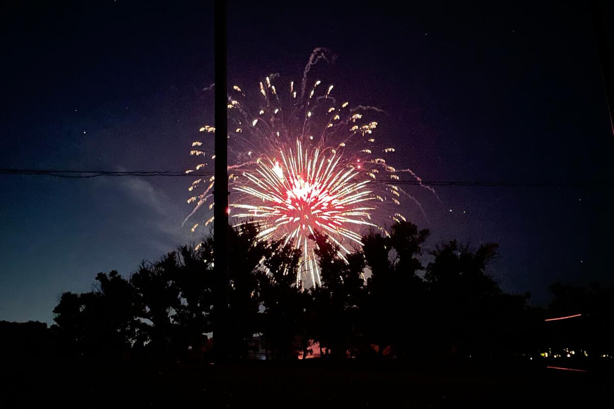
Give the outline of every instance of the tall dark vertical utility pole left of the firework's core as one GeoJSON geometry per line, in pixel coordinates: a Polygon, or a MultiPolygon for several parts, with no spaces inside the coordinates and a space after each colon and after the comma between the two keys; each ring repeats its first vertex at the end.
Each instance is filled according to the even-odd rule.
{"type": "Polygon", "coordinates": [[[228,117],[227,117],[227,4],[215,0],[215,120],[216,159],[213,185],[214,316],[216,362],[228,360],[228,117]]]}

